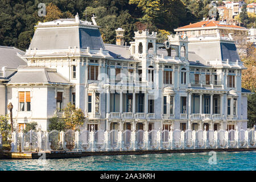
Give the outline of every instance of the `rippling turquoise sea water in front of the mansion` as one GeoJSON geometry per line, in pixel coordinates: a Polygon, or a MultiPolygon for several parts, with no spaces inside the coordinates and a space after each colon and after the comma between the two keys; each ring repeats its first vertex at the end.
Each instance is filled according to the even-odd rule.
{"type": "Polygon", "coordinates": [[[256,170],[256,151],[216,152],[217,164],[209,164],[209,152],[88,156],[76,159],[0,159],[0,170],[256,170]]]}

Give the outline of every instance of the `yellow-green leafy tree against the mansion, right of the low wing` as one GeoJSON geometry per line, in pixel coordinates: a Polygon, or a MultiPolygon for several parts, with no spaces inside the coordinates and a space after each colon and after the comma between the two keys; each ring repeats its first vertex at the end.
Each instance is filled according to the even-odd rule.
{"type": "Polygon", "coordinates": [[[84,112],[81,109],[76,108],[71,102],[64,107],[63,112],[66,129],[79,130],[84,123],[84,112]]]}

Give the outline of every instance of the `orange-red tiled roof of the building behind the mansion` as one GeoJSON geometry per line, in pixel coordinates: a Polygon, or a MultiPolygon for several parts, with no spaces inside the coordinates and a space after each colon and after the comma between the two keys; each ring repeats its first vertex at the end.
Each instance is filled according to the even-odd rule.
{"type": "Polygon", "coordinates": [[[214,20],[204,20],[201,22],[197,22],[197,23],[192,23],[189,24],[187,26],[184,27],[179,27],[177,29],[183,29],[183,28],[199,28],[199,27],[230,27],[230,28],[245,28],[245,27],[240,27],[240,26],[236,26],[233,24],[220,24],[219,21],[214,21],[214,20]]]}

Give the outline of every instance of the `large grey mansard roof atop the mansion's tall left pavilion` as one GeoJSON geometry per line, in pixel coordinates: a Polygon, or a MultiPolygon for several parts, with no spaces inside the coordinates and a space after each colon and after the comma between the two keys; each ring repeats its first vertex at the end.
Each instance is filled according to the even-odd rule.
{"type": "Polygon", "coordinates": [[[100,30],[91,27],[37,28],[30,49],[68,49],[83,48],[105,50],[100,30]]]}

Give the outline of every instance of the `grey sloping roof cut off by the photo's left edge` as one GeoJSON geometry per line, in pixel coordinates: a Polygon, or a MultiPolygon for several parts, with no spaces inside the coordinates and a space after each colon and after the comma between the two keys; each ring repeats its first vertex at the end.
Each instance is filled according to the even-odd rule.
{"type": "Polygon", "coordinates": [[[26,61],[20,58],[24,51],[15,47],[0,46],[0,69],[2,67],[18,68],[19,65],[27,65],[26,61]]]}

